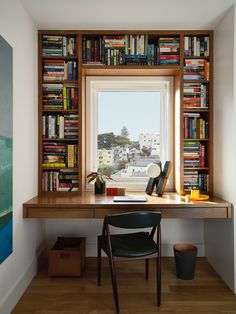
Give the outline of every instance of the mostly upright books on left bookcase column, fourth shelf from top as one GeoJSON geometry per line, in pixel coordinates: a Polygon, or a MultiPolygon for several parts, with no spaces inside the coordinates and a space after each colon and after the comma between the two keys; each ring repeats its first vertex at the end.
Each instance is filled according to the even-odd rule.
{"type": "Polygon", "coordinates": [[[77,139],[78,115],[43,115],[43,137],[77,139]]]}

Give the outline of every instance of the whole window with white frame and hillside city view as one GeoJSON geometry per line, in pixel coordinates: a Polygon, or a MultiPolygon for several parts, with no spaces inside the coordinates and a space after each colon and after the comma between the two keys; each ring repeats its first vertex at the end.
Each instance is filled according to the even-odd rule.
{"type": "Polygon", "coordinates": [[[86,173],[105,170],[109,184],[143,190],[148,164],[173,161],[172,84],[170,77],[87,77],[86,173]]]}

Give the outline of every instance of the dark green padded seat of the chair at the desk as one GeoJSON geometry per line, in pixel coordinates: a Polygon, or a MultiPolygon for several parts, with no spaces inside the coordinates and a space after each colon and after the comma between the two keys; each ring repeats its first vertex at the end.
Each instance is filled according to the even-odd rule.
{"type": "MultiPolygon", "coordinates": [[[[102,247],[106,242],[102,239],[102,247]]],[[[112,254],[117,257],[137,258],[157,253],[157,245],[147,232],[111,235],[112,254]]]]}

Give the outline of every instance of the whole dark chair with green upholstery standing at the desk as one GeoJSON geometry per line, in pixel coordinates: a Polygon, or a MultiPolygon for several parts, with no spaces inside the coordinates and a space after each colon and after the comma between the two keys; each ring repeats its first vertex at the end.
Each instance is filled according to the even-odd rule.
{"type": "Polygon", "coordinates": [[[161,304],[161,213],[131,212],[105,216],[102,235],[98,236],[97,275],[98,286],[101,285],[101,250],[108,258],[111,271],[113,295],[116,312],[119,313],[119,297],[115,272],[115,260],[145,259],[146,279],[149,276],[149,259],[156,257],[157,306],[161,304]],[[123,229],[151,228],[125,234],[110,234],[109,226],[123,229]],[[156,232],[156,242],[153,240],[156,232]]]}

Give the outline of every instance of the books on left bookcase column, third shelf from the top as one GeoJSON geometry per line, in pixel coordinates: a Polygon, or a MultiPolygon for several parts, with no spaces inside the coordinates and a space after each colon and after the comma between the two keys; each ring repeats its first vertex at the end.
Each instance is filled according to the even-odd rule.
{"type": "Polygon", "coordinates": [[[43,109],[77,109],[78,88],[69,84],[43,84],[43,109]]]}

